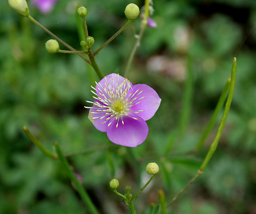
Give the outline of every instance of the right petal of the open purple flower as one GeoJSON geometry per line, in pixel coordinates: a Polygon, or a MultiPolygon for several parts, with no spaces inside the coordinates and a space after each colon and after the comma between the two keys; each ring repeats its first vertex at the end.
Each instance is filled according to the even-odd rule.
{"type": "Polygon", "coordinates": [[[137,90],[139,90],[138,92],[143,90],[143,92],[140,93],[138,96],[135,95],[137,97],[137,99],[133,101],[134,105],[132,107],[130,107],[130,110],[133,112],[144,110],[144,111],[141,111],[140,113],[136,113],[135,117],[140,116],[142,119],[144,119],[146,121],[154,116],[155,112],[157,111],[157,109],[160,105],[161,98],[158,96],[156,91],[148,85],[137,84],[137,85],[132,86],[133,92],[135,92],[137,90]],[[144,98],[142,98],[142,97],[144,97],[144,98]],[[139,100],[140,98],[142,98],[142,99],[139,100]],[[138,102],[140,102],[140,103],[138,103],[138,102]],[[136,103],[138,103],[138,104],[136,104],[136,103]]]}

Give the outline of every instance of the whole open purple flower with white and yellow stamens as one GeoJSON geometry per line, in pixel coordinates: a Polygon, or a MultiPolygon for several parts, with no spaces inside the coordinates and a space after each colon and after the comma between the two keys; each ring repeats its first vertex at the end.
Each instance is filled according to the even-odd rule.
{"type": "Polygon", "coordinates": [[[96,129],[107,132],[111,142],[137,147],[148,136],[146,120],[154,116],[161,99],[145,84],[132,85],[126,78],[111,73],[92,87],[95,95],[88,118],[96,129]]]}

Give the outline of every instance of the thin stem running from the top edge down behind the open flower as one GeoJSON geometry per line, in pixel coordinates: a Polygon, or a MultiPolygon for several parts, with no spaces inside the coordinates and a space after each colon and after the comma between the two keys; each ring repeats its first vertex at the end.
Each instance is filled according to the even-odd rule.
{"type": "Polygon", "coordinates": [[[137,37],[137,40],[136,40],[136,42],[135,42],[135,44],[133,46],[133,49],[131,51],[129,60],[127,62],[127,65],[126,65],[126,68],[125,68],[124,77],[126,77],[128,75],[128,71],[130,69],[130,66],[131,66],[132,60],[134,58],[135,52],[136,52],[137,48],[140,45],[141,37],[143,36],[144,30],[145,30],[146,25],[148,23],[148,16],[149,16],[149,0],[145,0],[145,9],[144,9],[143,20],[141,21],[141,29],[140,29],[140,32],[139,32],[139,36],[137,37]]]}

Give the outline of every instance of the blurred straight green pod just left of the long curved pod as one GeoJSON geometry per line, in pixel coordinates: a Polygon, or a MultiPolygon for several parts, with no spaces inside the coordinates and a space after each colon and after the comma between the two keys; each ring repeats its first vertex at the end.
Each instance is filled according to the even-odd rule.
{"type": "Polygon", "coordinates": [[[222,106],[224,105],[224,102],[226,100],[226,97],[227,97],[227,93],[228,93],[228,89],[230,88],[230,81],[231,81],[231,78],[228,78],[228,81],[221,93],[221,96],[219,97],[219,100],[218,100],[218,103],[217,103],[217,106],[213,112],[213,115],[212,115],[212,118],[211,120],[209,121],[206,129],[204,129],[204,132],[200,138],[200,141],[198,142],[197,144],[197,147],[196,147],[196,151],[198,151],[199,149],[201,149],[203,147],[203,144],[208,136],[208,134],[211,132],[215,122],[216,122],[216,119],[219,115],[219,112],[221,112],[221,109],[222,109],[222,106]]]}

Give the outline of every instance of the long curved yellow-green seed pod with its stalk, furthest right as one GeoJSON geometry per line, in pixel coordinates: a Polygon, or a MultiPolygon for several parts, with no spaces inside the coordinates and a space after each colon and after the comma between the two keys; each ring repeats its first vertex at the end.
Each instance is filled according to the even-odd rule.
{"type": "Polygon", "coordinates": [[[233,59],[230,90],[228,92],[228,98],[227,98],[227,101],[226,101],[224,113],[223,113],[221,122],[219,124],[217,134],[216,134],[216,136],[215,136],[215,138],[214,138],[214,140],[211,144],[211,147],[210,147],[206,157],[204,158],[204,161],[203,161],[201,167],[197,171],[197,174],[195,175],[195,177],[192,178],[188,182],[188,184],[185,185],[185,187],[182,190],[179,191],[179,193],[171,200],[171,202],[166,206],[166,208],[168,208],[179,197],[179,195],[182,194],[184,192],[184,190],[187,189],[203,173],[203,170],[206,168],[206,165],[208,164],[209,160],[211,159],[213,153],[215,152],[215,150],[218,146],[219,138],[221,137],[224,125],[225,125],[226,120],[227,120],[228,112],[230,110],[231,101],[232,101],[232,97],[233,97],[234,90],[235,90],[235,83],[236,83],[236,57],[234,57],[234,59],[233,59]]]}

